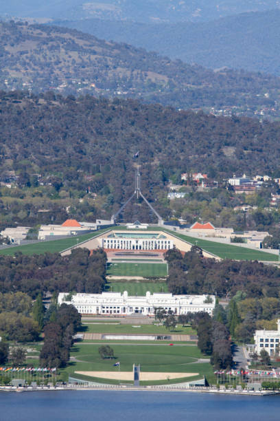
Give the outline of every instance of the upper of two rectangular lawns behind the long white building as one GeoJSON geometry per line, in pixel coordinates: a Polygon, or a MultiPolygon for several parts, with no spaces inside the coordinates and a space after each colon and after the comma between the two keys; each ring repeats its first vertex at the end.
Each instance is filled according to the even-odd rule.
{"type": "Polygon", "coordinates": [[[167,264],[108,263],[107,275],[115,277],[167,277],[167,264]]]}

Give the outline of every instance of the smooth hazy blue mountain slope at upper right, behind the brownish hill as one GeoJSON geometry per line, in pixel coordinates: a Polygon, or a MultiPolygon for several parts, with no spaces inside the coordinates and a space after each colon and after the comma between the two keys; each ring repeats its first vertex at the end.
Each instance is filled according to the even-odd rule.
{"type": "Polygon", "coordinates": [[[212,69],[226,66],[280,76],[280,10],[238,14],[203,23],[84,19],[56,21],[56,25],[212,69]]]}

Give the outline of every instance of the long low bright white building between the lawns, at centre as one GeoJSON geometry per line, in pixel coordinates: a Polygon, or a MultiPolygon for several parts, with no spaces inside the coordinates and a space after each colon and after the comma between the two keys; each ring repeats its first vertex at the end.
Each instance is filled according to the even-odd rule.
{"type": "Polygon", "coordinates": [[[211,295],[172,295],[147,292],[145,296],[128,296],[128,292],[102,292],[102,294],[58,294],[58,304],[72,304],[81,314],[145,314],[153,315],[156,307],[172,310],[175,314],[187,312],[213,313],[215,296],[211,295]],[[71,301],[69,300],[71,298],[71,301]],[[69,300],[69,301],[67,301],[69,300]]]}

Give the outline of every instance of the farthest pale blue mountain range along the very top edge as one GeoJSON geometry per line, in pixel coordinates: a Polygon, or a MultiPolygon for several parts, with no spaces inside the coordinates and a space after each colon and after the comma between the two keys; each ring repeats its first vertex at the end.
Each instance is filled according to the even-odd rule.
{"type": "Polygon", "coordinates": [[[111,19],[134,22],[209,21],[242,12],[279,8],[277,0],[10,0],[1,16],[44,19],[111,19]]]}

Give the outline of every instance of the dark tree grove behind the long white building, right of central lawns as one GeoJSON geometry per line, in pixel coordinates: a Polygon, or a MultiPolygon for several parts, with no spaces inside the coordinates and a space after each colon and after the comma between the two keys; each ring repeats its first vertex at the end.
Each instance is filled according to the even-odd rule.
{"type": "MultiPolygon", "coordinates": [[[[187,252],[183,257],[180,252],[170,250],[166,257],[169,263],[167,284],[173,294],[203,293],[229,297],[242,291],[248,298],[279,299],[278,268],[257,261],[205,259],[196,251],[187,252]]],[[[236,321],[233,324],[236,326],[236,321]]]]}

